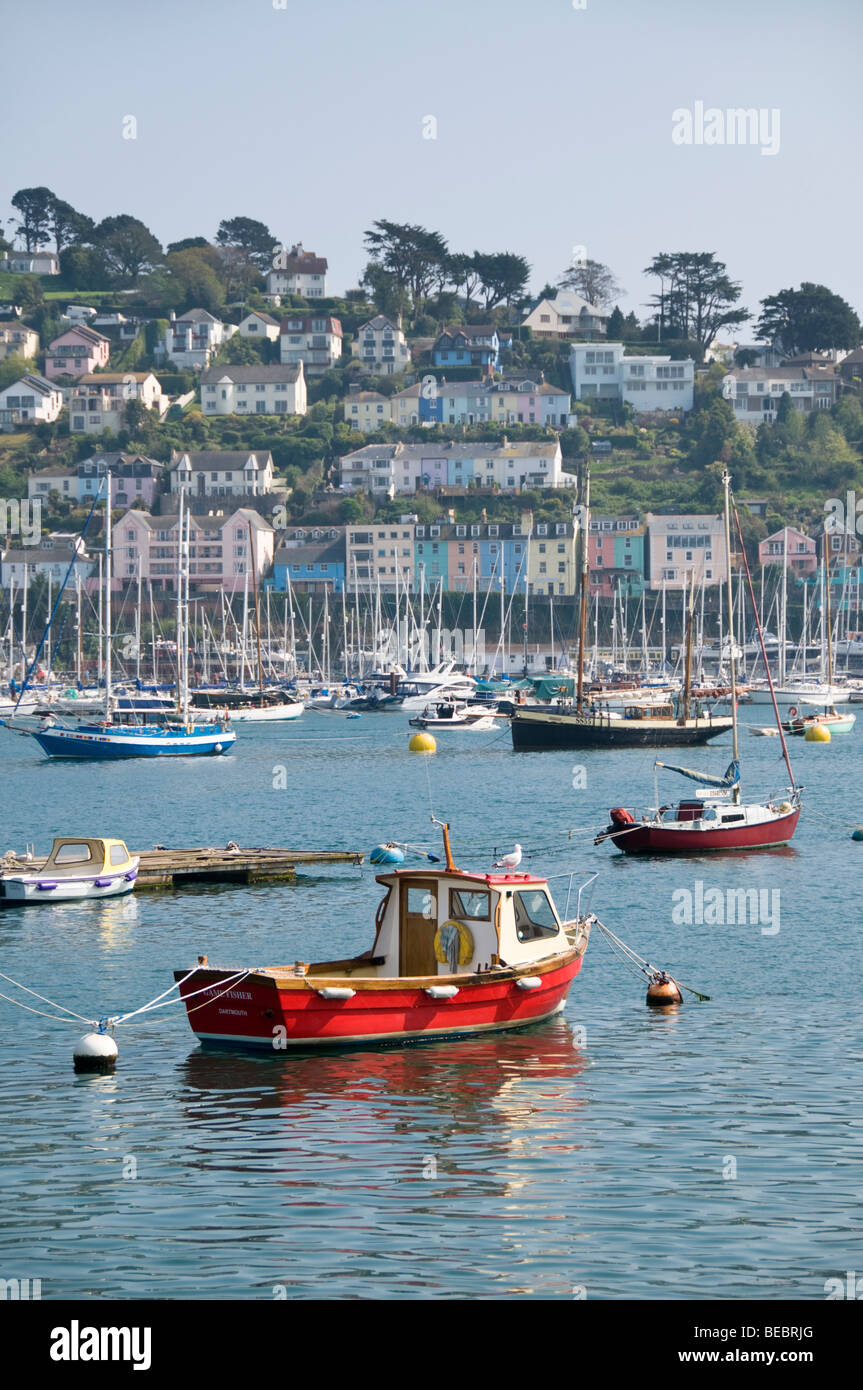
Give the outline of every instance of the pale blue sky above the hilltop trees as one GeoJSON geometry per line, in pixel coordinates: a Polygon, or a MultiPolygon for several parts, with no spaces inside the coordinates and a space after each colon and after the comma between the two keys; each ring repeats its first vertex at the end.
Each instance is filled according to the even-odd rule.
{"type": "Polygon", "coordinates": [[[806,279],[863,313],[860,0],[44,0],[39,17],[3,19],[6,51],[28,54],[4,71],[7,234],[13,193],[47,185],[163,245],[258,218],[327,256],[329,293],[389,218],[525,256],[532,292],[586,254],[639,317],[667,250],[716,252],[756,314],[806,279]],[[723,113],[710,135],[763,111],[762,138],[693,125],[675,143],[696,103],[723,113]]]}

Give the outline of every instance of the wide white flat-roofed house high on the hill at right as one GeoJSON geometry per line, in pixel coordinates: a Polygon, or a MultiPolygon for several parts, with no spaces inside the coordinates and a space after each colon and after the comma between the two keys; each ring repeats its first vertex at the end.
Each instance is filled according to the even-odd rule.
{"type": "Polygon", "coordinates": [[[575,400],[623,400],[641,411],[692,410],[692,357],[627,357],[623,343],[573,343],[570,373],[575,400]]]}

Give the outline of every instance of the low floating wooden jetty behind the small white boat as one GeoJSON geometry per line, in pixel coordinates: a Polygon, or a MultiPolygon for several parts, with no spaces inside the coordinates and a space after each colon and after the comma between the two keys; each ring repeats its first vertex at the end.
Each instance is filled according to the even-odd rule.
{"type": "MultiPolygon", "coordinates": [[[[138,892],[195,888],[210,883],[295,883],[297,867],[306,865],[361,865],[364,855],[353,849],[243,849],[233,842],[224,849],[135,849],[140,856],[138,892]]],[[[44,859],[26,860],[7,853],[3,869],[39,872],[44,859]]],[[[0,873],[0,878],[3,874],[0,873]]]]}

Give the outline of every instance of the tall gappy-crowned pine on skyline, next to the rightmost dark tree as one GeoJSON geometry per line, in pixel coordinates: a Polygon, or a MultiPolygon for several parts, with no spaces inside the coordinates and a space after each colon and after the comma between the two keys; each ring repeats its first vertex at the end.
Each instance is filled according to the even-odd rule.
{"type": "Polygon", "coordinates": [[[660,293],[653,296],[660,332],[667,329],[666,336],[691,338],[702,353],[720,328],[752,318],[738,304],[741,286],[713,252],[661,252],[645,268],[645,275],[660,281],[660,293]]]}

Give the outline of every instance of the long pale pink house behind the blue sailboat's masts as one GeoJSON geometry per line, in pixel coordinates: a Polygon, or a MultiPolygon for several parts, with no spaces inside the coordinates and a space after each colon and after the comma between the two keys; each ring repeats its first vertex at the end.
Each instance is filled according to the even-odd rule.
{"type": "MultiPolygon", "coordinates": [[[[154,517],[126,512],[114,527],[114,574],[124,584],[151,580],[154,588],[176,588],[178,513],[154,517]]],[[[275,531],[250,507],[192,517],[189,578],[197,591],[242,594],[246,575],[258,584],[272,566],[275,531]]]]}

